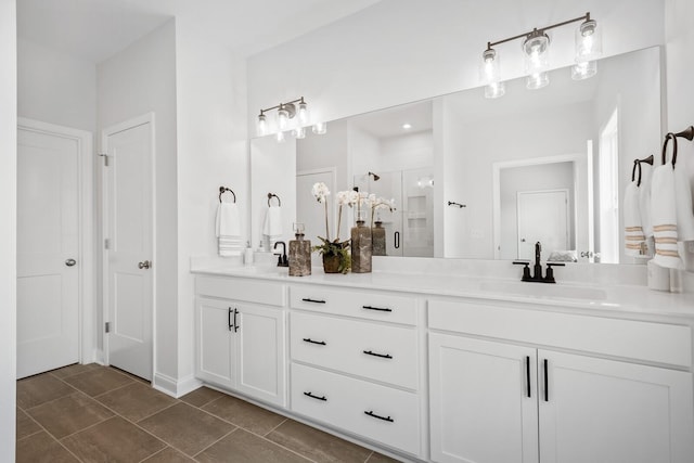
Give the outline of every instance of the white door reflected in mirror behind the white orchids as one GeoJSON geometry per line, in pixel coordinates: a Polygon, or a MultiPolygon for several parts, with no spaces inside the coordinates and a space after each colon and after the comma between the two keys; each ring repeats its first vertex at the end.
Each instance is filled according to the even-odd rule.
{"type": "MultiPolygon", "coordinates": [[[[333,170],[311,171],[311,172],[298,172],[296,175],[296,220],[306,223],[306,239],[311,241],[312,245],[321,244],[318,236],[325,236],[325,205],[316,201],[311,194],[313,184],[323,182],[330,190],[330,196],[327,197],[327,220],[330,223],[330,237],[335,240],[337,237],[337,224],[334,221],[335,217],[335,172],[333,170]]],[[[340,240],[349,237],[349,227],[347,222],[347,214],[343,211],[340,240]]]]}

